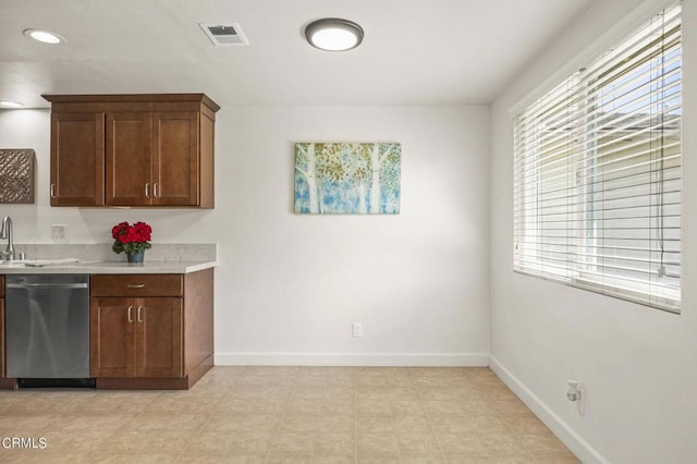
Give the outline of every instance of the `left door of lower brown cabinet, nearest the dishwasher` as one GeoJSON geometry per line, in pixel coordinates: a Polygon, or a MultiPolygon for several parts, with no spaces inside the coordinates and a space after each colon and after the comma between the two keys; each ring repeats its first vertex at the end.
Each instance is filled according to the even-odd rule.
{"type": "Polygon", "coordinates": [[[91,377],[135,375],[136,301],[91,298],[89,306],[89,366],[91,377]]]}

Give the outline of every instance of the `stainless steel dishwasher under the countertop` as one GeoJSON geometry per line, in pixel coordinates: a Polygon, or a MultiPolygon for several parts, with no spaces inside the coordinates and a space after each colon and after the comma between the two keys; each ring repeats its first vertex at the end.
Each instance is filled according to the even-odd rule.
{"type": "Polygon", "coordinates": [[[89,377],[89,276],[5,276],[7,376],[89,377]]]}

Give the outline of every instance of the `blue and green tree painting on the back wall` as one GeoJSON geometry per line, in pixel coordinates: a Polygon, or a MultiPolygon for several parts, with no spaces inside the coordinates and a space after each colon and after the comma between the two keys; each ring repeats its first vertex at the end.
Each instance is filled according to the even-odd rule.
{"type": "Polygon", "coordinates": [[[295,212],[400,212],[399,143],[295,144],[295,212]]]}

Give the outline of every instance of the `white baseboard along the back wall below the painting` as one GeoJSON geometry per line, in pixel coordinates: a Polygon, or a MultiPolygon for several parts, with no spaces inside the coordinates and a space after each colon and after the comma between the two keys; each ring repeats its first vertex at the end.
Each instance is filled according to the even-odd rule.
{"type": "Polygon", "coordinates": [[[484,353],[216,353],[216,366],[488,366],[484,353]]]}

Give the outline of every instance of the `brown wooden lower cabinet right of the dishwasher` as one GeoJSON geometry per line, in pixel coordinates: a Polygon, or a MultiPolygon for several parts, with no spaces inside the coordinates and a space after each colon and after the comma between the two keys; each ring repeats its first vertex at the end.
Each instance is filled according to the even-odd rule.
{"type": "Polygon", "coordinates": [[[97,388],[186,389],[212,367],[212,269],[90,279],[97,388]]]}

